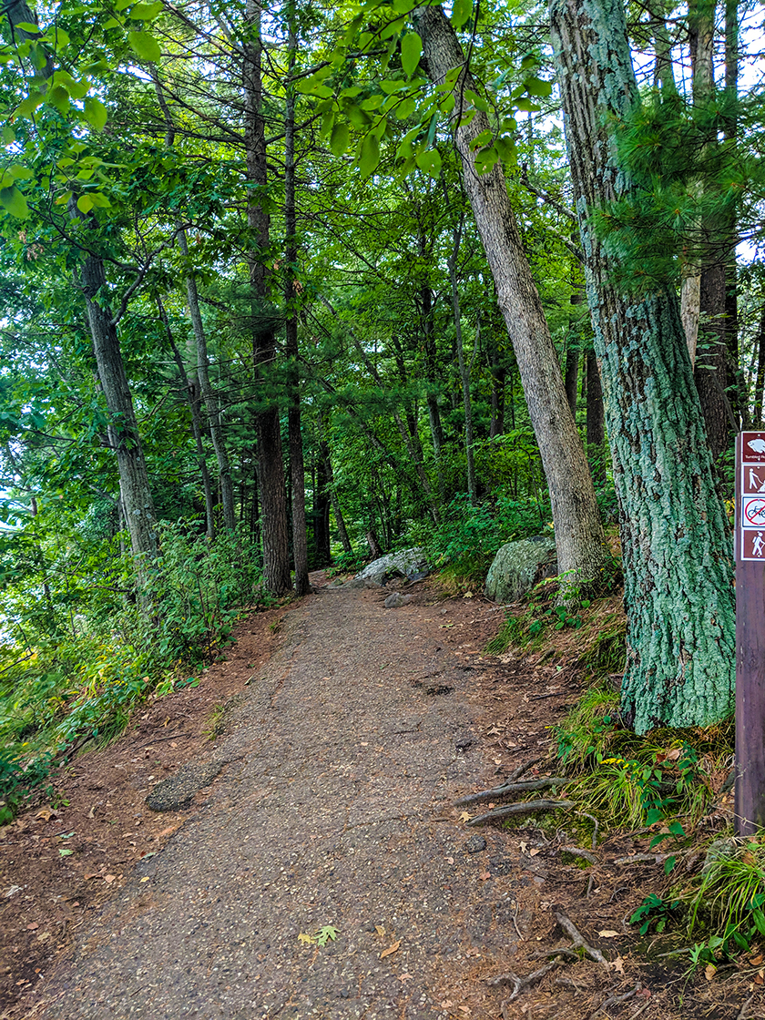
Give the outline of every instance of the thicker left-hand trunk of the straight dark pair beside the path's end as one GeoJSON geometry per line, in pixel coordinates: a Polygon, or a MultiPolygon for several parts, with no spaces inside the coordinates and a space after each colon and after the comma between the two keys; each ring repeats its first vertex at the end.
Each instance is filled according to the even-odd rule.
{"type": "Polygon", "coordinates": [[[276,341],[274,316],[268,309],[268,278],[265,265],[269,240],[269,217],[265,210],[267,186],[265,118],[260,36],[262,8],[258,0],[247,0],[249,39],[243,48],[243,85],[245,92],[245,149],[249,191],[247,223],[255,250],[248,256],[252,290],[253,361],[260,402],[265,407],[255,415],[258,438],[258,480],[260,483],[261,534],[263,540],[263,575],[265,586],[274,595],[286,595],[292,586],[290,543],[282,456],[282,429],[278,403],[269,399],[266,390],[267,366],[274,363],[276,341]]]}

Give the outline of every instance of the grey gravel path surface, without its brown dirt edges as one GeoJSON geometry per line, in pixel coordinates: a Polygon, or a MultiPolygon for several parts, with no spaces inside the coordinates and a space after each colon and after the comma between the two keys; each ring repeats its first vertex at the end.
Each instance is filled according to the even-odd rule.
{"type": "Polygon", "coordinates": [[[458,824],[454,799],[496,766],[438,613],[325,589],[287,616],[230,710],[211,796],[38,984],[38,1015],[496,1015],[470,974],[513,952],[514,904],[480,880],[507,833],[469,853],[458,824]],[[300,938],[325,925],[336,940],[300,938]]]}

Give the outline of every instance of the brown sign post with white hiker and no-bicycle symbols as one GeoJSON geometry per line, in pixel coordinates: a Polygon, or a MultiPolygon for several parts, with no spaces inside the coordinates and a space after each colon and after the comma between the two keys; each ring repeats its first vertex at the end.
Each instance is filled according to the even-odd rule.
{"type": "Polygon", "coordinates": [[[765,826],[765,431],[735,444],[735,831],[765,826]]]}

